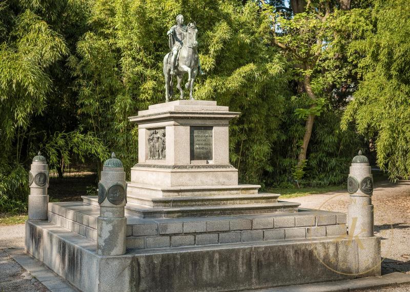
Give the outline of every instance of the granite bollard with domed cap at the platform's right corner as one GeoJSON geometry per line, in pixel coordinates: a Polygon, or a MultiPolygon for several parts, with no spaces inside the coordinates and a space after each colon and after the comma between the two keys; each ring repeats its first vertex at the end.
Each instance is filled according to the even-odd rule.
{"type": "Polygon", "coordinates": [[[374,206],[372,205],[373,175],[366,156],[352,160],[347,190],[350,194],[347,210],[347,228],[350,237],[374,236],[374,206]]]}

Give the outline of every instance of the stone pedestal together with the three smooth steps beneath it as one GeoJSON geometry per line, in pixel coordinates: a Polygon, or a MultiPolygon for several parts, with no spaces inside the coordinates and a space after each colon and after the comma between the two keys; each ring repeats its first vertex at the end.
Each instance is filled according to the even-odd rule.
{"type": "Polygon", "coordinates": [[[297,211],[259,185],[239,185],[229,163],[229,121],[239,113],[215,101],[150,105],[138,124],[138,163],[131,168],[126,211],[142,218],[297,211]]]}

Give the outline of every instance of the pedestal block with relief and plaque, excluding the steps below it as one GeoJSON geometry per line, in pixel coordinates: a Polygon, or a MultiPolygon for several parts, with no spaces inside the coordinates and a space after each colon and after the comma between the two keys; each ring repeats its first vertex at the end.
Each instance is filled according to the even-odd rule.
{"type": "Polygon", "coordinates": [[[161,187],[238,184],[229,163],[229,121],[239,113],[215,101],[178,100],[151,105],[138,123],[138,163],[131,181],[161,187]]]}

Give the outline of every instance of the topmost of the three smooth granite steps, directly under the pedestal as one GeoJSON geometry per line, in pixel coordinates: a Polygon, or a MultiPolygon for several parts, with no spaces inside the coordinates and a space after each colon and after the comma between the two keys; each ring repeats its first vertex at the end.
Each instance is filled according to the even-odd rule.
{"type": "Polygon", "coordinates": [[[153,196],[221,196],[257,194],[259,185],[233,185],[233,186],[190,186],[190,187],[158,187],[152,185],[128,182],[127,195],[153,196]]]}

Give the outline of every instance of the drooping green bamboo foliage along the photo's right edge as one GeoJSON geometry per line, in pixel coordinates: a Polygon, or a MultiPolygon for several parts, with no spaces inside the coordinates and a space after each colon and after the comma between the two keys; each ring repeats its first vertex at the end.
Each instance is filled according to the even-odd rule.
{"type": "Polygon", "coordinates": [[[375,1],[370,15],[362,37],[348,47],[363,81],[347,106],[342,128],[354,122],[359,133],[375,141],[378,166],[392,180],[408,178],[410,10],[404,0],[375,1]]]}

